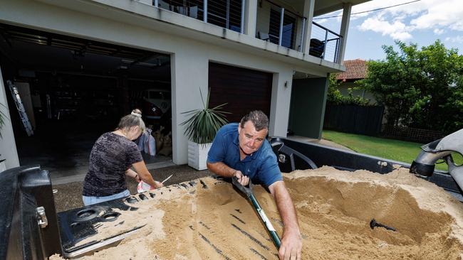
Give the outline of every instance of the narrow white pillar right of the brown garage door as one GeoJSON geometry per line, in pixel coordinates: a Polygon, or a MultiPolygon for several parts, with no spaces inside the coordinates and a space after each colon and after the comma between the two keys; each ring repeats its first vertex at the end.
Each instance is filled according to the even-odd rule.
{"type": "Polygon", "coordinates": [[[286,137],[292,83],[293,70],[291,68],[274,73],[271,89],[269,136],[286,137]]]}

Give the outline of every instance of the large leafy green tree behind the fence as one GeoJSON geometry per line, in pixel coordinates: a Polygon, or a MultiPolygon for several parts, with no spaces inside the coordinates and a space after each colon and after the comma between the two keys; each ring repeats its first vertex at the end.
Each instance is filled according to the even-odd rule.
{"type": "Polygon", "coordinates": [[[387,108],[387,124],[454,131],[463,126],[463,56],[439,41],[422,47],[383,46],[385,60],[367,63],[361,80],[387,108]]]}

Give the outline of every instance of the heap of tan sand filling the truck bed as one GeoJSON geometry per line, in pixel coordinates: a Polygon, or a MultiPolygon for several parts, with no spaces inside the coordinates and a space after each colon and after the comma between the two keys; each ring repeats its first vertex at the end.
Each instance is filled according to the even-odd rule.
{"type": "MultiPolygon", "coordinates": [[[[83,259],[278,259],[254,208],[231,183],[200,180],[204,185],[156,190],[155,199],[98,227],[96,236],[108,237],[146,224],[117,247],[83,259]]],[[[462,204],[407,169],[380,175],[323,167],[284,180],[301,227],[302,259],[462,259],[462,204]],[[371,229],[373,218],[397,232],[371,229]]],[[[254,195],[281,237],[271,194],[254,186],[254,195]]]]}

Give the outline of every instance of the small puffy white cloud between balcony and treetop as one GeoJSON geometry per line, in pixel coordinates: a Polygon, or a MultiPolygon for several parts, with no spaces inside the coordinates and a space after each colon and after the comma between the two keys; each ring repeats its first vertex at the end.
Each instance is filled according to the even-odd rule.
{"type": "Polygon", "coordinates": [[[402,21],[385,21],[383,17],[376,16],[367,18],[359,26],[360,31],[374,31],[381,33],[383,36],[390,36],[394,40],[409,40],[412,37],[413,28],[406,26],[402,21]]]}

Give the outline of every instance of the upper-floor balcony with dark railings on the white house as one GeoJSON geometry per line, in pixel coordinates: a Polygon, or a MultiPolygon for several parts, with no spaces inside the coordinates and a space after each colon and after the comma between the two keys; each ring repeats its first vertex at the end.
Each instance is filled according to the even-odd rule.
{"type": "MultiPolygon", "coordinates": [[[[244,33],[246,1],[249,0],[153,0],[152,5],[184,16],[211,23],[231,31],[244,33]]],[[[341,36],[318,23],[312,22],[310,30],[304,26],[307,18],[294,11],[301,9],[303,1],[293,6],[279,6],[269,0],[259,1],[256,9],[255,37],[332,63],[340,63],[341,36]],[[304,32],[311,32],[310,43],[304,32]],[[306,50],[307,51],[307,50],[306,50]]],[[[252,15],[252,14],[251,14],[252,15]]]]}

